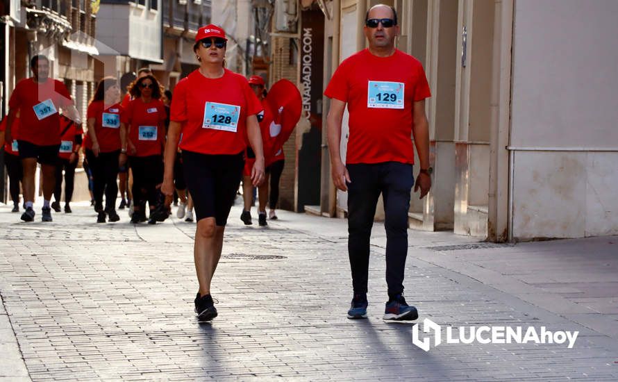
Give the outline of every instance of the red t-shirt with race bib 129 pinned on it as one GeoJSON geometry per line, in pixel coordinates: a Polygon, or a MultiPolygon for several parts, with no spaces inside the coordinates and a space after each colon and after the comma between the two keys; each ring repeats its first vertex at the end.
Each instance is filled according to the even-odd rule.
{"type": "Polygon", "coordinates": [[[416,58],[399,50],[389,57],[362,50],[341,63],[324,94],[348,104],[346,163],[414,163],[414,102],[431,97],[416,58]]]}

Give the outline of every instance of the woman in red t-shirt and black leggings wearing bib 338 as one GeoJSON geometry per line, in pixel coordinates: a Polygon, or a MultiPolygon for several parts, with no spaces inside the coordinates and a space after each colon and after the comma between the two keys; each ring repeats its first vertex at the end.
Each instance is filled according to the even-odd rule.
{"type": "Polygon", "coordinates": [[[88,105],[87,136],[84,140],[86,159],[94,178],[94,210],[99,213],[97,223],[117,222],[118,167],[126,163],[126,128],[122,124],[122,106],[118,103],[120,88],[114,77],[99,82],[88,105]],[[103,209],[105,192],[105,209],[103,209]]]}

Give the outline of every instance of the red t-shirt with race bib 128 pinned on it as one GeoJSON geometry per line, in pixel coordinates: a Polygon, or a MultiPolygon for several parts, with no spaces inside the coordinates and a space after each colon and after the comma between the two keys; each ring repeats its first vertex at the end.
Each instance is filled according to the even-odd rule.
{"type": "Polygon", "coordinates": [[[260,110],[244,76],[225,69],[221,78],[206,78],[197,69],[176,84],[169,119],[186,122],[181,149],[237,154],[247,147],[247,116],[260,110]]]}

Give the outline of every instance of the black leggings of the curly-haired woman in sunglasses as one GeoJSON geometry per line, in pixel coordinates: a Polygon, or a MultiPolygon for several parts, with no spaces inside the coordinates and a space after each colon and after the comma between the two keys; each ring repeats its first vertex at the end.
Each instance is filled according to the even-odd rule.
{"type": "Polygon", "coordinates": [[[131,156],[128,165],[133,172],[133,201],[135,206],[146,207],[146,201],[150,208],[155,208],[159,191],[156,186],[163,183],[163,157],[131,156]]]}

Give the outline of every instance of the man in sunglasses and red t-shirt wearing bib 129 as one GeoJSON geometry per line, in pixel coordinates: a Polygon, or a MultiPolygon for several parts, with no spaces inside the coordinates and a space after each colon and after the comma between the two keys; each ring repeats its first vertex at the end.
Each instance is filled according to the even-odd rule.
{"type": "Polygon", "coordinates": [[[384,200],[386,282],[384,319],[417,319],[403,298],[403,270],[408,256],[408,209],[414,148],[420,159],[415,191],[421,198],[431,188],[429,132],[425,99],[429,86],[421,63],[395,49],[399,34],[394,8],[383,4],[367,11],[365,35],[369,49],[344,60],[324,94],[331,98],[327,117],[328,149],[335,186],[348,191],[348,251],[354,297],[349,318],[367,317],[369,237],[380,194],[384,200]],[[340,155],[344,109],[349,111],[346,164],[340,155]]]}

